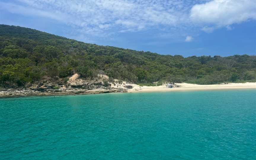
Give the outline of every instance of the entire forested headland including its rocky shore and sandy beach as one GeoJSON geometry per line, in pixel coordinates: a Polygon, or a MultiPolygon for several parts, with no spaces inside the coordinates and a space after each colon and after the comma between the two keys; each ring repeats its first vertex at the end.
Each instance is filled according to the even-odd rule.
{"type": "Polygon", "coordinates": [[[255,55],[160,55],[0,25],[0,97],[256,88],[253,82],[255,55]]]}

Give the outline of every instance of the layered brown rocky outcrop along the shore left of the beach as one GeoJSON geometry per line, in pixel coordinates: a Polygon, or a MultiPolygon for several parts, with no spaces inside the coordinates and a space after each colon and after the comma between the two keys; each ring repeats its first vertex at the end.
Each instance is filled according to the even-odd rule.
{"type": "Polygon", "coordinates": [[[66,95],[66,94],[102,94],[113,92],[127,92],[131,85],[126,85],[127,89],[113,88],[111,84],[103,81],[90,81],[77,79],[79,75],[72,76],[68,82],[63,80],[41,81],[37,86],[29,89],[2,89],[0,97],[19,97],[36,95],[66,95]],[[76,78],[75,78],[76,76],[76,78]],[[71,80],[72,79],[72,80],[71,80]]]}

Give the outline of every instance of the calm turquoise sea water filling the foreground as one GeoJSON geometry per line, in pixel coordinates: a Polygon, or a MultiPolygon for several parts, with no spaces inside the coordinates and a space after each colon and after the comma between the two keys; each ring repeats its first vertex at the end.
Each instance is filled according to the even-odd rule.
{"type": "Polygon", "coordinates": [[[0,99],[0,159],[256,159],[256,90],[0,99]]]}

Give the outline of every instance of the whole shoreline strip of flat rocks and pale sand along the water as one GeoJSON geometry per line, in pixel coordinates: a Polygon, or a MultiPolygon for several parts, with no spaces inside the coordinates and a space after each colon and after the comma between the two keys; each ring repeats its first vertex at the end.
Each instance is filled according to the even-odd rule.
{"type": "Polygon", "coordinates": [[[229,84],[212,84],[199,85],[177,83],[179,87],[167,88],[166,85],[161,86],[139,86],[137,84],[129,84],[132,89],[124,86],[109,89],[72,89],[72,90],[53,90],[46,89],[45,92],[34,91],[31,89],[8,89],[0,92],[0,98],[7,97],[30,97],[30,96],[57,96],[57,95],[85,95],[85,94],[105,94],[105,93],[138,93],[138,92],[176,92],[176,91],[204,91],[204,90],[230,90],[230,89],[256,89],[256,83],[229,83],[229,84]]]}

